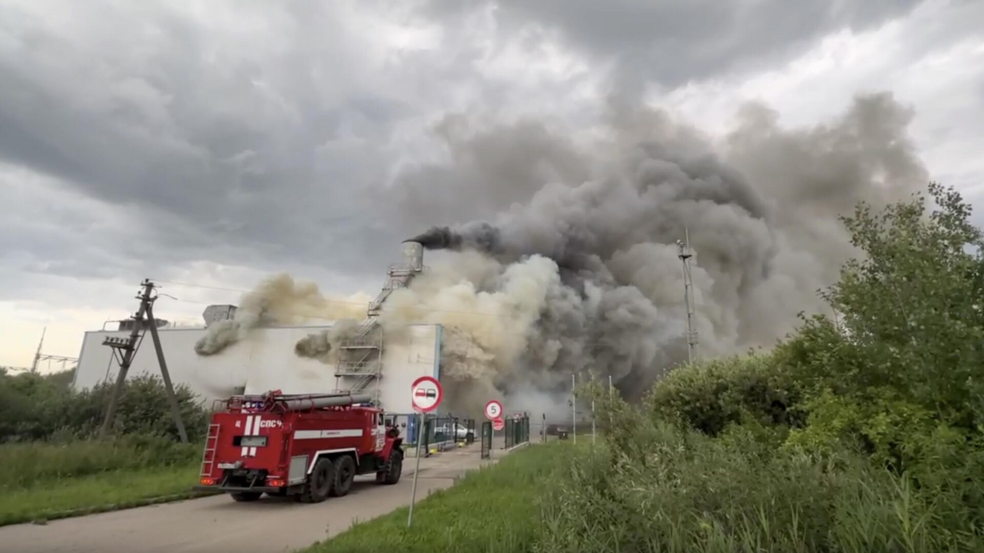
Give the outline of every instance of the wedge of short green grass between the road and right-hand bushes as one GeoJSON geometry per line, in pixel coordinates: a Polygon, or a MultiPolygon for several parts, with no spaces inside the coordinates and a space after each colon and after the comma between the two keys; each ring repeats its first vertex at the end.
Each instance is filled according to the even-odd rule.
{"type": "Polygon", "coordinates": [[[572,449],[557,442],[524,448],[418,502],[411,528],[404,507],[305,551],[527,551],[538,532],[543,481],[572,449]]]}

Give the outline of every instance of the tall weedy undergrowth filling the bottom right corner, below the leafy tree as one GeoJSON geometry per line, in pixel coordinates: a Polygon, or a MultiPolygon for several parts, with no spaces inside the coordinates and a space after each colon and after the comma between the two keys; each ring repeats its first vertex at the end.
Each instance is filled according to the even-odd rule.
{"type": "MultiPolygon", "coordinates": [[[[979,478],[918,489],[866,458],[818,457],[731,425],[717,438],[636,413],[625,451],[582,452],[541,500],[538,551],[979,551],[979,478]],[[946,495],[941,496],[943,492],[946,495]]],[[[968,470],[969,474],[969,470],[968,470]]]]}

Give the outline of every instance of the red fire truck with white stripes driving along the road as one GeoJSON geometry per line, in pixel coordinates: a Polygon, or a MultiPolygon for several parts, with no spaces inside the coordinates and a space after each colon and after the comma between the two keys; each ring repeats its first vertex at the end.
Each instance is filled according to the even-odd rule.
{"type": "Polygon", "coordinates": [[[236,501],[264,493],[306,503],[348,493],[356,474],[400,481],[400,429],[365,395],[233,396],[212,415],[197,489],[236,501]]]}

